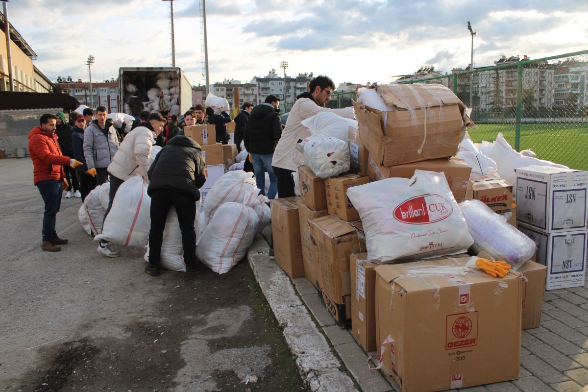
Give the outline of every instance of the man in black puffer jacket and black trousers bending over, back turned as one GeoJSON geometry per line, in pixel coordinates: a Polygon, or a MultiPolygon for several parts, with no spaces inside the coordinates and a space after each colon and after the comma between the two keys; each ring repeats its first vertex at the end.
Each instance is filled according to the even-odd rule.
{"type": "Polygon", "coordinates": [[[182,246],[186,273],[193,276],[205,270],[196,258],[196,201],[200,200],[200,188],[206,182],[200,145],[188,136],[178,135],[169,140],[153,160],[147,176],[151,196],[151,230],[149,231],[149,264],[145,272],[158,276],[161,271],[161,244],[169,207],[178,213],[182,230],[182,246]]]}

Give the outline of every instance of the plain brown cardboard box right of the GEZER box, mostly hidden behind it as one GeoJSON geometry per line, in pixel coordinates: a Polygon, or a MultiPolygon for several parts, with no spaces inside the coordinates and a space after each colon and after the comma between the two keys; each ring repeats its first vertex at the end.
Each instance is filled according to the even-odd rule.
{"type": "Polygon", "coordinates": [[[517,272],[526,278],[523,279],[521,328],[539,328],[547,267],[529,260],[517,272]]]}

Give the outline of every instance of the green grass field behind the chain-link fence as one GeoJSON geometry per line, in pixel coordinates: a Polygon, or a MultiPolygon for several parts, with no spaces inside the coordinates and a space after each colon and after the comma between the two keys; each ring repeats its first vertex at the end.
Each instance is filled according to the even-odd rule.
{"type": "MultiPolygon", "coordinates": [[[[515,124],[477,124],[468,131],[474,142],[496,140],[499,132],[515,147],[515,124]]],[[[523,124],[520,149],[530,148],[537,158],[588,170],[588,123],[523,124]]]]}

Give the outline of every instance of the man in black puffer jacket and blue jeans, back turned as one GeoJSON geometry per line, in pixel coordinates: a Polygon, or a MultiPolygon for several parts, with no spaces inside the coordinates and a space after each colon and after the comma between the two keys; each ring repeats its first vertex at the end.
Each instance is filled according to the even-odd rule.
{"type": "Polygon", "coordinates": [[[270,95],[265,103],[255,106],[251,110],[243,143],[245,149],[251,154],[255,182],[261,189],[260,194],[265,195],[265,173],[269,175],[268,198],[273,199],[278,191],[278,180],[273,174],[272,158],[278,140],[282,137],[282,123],[280,123],[280,99],[270,95]]]}

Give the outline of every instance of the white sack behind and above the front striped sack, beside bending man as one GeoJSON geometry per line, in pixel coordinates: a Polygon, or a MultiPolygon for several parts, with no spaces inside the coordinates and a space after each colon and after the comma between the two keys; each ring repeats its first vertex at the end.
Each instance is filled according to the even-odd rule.
{"type": "MultiPolygon", "coordinates": [[[[204,199],[204,213],[206,221],[210,222],[216,210],[227,202],[242,203],[245,197],[248,197],[253,190],[257,189],[255,180],[252,178],[253,173],[235,170],[226,172],[212,186],[206,199],[204,199]]],[[[257,193],[256,193],[257,195],[257,193]]]]}

